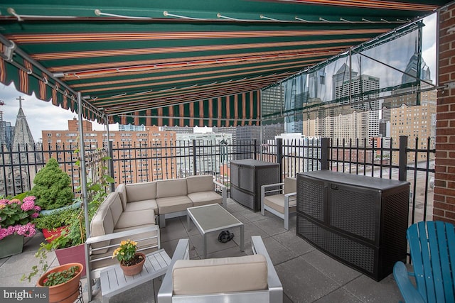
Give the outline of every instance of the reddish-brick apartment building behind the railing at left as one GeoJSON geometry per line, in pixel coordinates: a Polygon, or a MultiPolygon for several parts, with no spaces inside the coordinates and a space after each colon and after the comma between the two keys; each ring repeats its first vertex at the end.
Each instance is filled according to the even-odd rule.
{"type": "MultiPolygon", "coordinates": [[[[68,120],[67,131],[42,131],[45,161],[55,157],[65,172],[79,184],[78,155],[73,152],[79,142],[79,121],[68,120]],[[46,153],[49,152],[49,153],[46,153]]],[[[95,131],[90,121],[82,121],[85,151],[107,146],[107,133],[95,131]]],[[[147,126],[144,131],[109,131],[113,145],[115,184],[147,182],[176,177],[176,133],[147,126]],[[164,157],[168,156],[168,158],[164,157]]]]}

